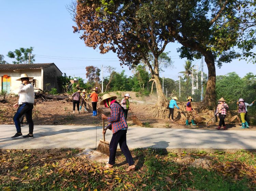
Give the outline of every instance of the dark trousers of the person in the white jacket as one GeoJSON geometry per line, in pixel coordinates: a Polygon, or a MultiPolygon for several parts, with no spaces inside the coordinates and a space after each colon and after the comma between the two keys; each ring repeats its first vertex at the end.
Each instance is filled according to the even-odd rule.
{"type": "Polygon", "coordinates": [[[34,130],[34,123],[32,120],[33,107],[34,107],[33,104],[24,103],[22,105],[19,105],[17,112],[13,117],[13,121],[15,123],[17,133],[21,133],[20,118],[25,114],[27,123],[28,123],[28,127],[29,127],[29,134],[33,134],[33,130],[34,130]]]}

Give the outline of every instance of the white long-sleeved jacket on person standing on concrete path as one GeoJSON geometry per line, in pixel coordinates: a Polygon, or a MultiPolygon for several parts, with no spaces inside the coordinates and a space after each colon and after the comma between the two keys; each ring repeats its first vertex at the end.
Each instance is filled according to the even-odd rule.
{"type": "Polygon", "coordinates": [[[19,105],[23,103],[34,104],[35,95],[34,95],[34,87],[32,84],[20,84],[19,86],[19,105]]]}

